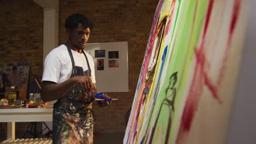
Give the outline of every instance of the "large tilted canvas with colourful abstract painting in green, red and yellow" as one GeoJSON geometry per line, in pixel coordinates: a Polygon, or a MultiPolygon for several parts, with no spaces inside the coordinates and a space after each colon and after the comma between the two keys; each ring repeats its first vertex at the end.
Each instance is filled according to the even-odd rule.
{"type": "Polygon", "coordinates": [[[124,143],[224,143],[249,1],[161,0],[124,143]]]}

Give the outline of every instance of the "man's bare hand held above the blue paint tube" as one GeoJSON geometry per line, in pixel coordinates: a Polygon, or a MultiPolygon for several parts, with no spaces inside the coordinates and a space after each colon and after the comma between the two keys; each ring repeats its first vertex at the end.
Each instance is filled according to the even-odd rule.
{"type": "Polygon", "coordinates": [[[92,85],[90,76],[74,76],[72,77],[74,82],[85,89],[85,91],[92,91],[94,85],[92,85]]]}

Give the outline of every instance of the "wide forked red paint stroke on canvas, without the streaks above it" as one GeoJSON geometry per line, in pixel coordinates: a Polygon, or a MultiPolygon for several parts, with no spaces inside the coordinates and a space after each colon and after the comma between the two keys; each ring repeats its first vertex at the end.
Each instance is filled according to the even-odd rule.
{"type": "Polygon", "coordinates": [[[217,87],[213,85],[210,77],[207,75],[205,71],[206,65],[206,56],[205,52],[203,52],[203,43],[200,46],[200,49],[195,50],[196,55],[196,67],[195,73],[193,76],[193,81],[191,83],[191,87],[189,90],[189,95],[187,101],[185,103],[184,112],[181,121],[182,132],[188,132],[191,128],[192,121],[194,119],[195,112],[197,111],[197,106],[199,104],[200,96],[202,93],[203,84],[206,85],[212,95],[213,98],[218,100],[219,103],[222,103],[218,96],[217,87]]]}

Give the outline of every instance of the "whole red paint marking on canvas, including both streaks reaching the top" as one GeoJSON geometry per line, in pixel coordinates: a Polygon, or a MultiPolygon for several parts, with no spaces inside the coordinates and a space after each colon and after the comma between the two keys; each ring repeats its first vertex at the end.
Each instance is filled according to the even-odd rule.
{"type": "Polygon", "coordinates": [[[220,104],[222,104],[222,101],[218,96],[217,86],[222,81],[222,78],[224,75],[225,63],[228,57],[228,51],[230,49],[231,37],[234,32],[236,22],[238,19],[241,0],[235,0],[234,10],[233,10],[232,19],[231,19],[231,25],[230,25],[230,32],[229,32],[230,33],[229,42],[225,50],[224,60],[222,62],[222,68],[220,69],[220,75],[219,75],[218,83],[216,86],[213,85],[213,82],[211,81],[210,77],[207,75],[206,71],[204,70],[205,64],[206,64],[206,56],[205,56],[205,53],[203,52],[205,35],[208,29],[208,23],[210,21],[211,12],[212,12],[212,5],[213,5],[213,0],[211,0],[208,4],[206,23],[205,23],[205,28],[203,29],[203,35],[202,35],[202,43],[199,49],[195,49],[196,66],[195,66],[193,81],[191,83],[189,95],[184,106],[184,111],[181,119],[181,126],[179,128],[179,133],[178,133],[176,143],[183,143],[182,141],[185,135],[187,135],[187,133],[190,131],[191,124],[193,122],[194,115],[197,110],[199,99],[202,93],[203,82],[210,89],[213,95],[213,98],[216,99],[220,104]]]}

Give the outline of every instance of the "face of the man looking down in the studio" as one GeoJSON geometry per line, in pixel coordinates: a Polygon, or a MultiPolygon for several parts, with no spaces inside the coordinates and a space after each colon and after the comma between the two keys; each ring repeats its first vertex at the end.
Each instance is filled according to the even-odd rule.
{"type": "Polygon", "coordinates": [[[85,44],[87,43],[90,37],[91,30],[89,28],[82,27],[82,24],[74,28],[72,31],[68,29],[68,35],[71,40],[71,44],[75,49],[83,50],[85,44]]]}

